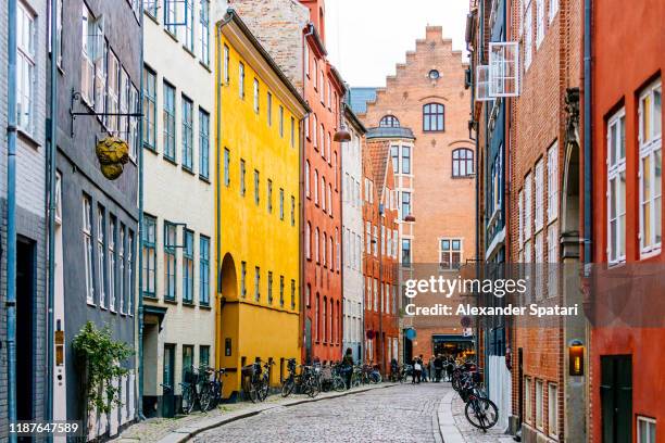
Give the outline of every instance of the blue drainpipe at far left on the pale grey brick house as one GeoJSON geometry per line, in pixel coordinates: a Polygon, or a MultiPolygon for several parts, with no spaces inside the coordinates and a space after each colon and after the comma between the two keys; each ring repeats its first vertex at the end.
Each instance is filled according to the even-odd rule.
{"type": "MultiPolygon", "coordinates": [[[[16,0],[8,0],[7,124],[7,398],[8,418],[16,421],[16,0]]],[[[16,434],[10,433],[11,443],[16,434]]]]}

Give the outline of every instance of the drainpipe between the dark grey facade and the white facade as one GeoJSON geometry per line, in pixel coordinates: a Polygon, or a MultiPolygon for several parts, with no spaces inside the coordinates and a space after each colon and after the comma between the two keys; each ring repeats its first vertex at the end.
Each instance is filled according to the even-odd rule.
{"type": "MultiPolygon", "coordinates": [[[[143,115],[143,2],[140,2],[140,28],[141,28],[141,38],[140,38],[140,45],[141,45],[141,50],[140,50],[140,66],[139,66],[139,72],[140,72],[140,80],[139,80],[139,87],[140,87],[140,97],[141,100],[139,100],[139,114],[143,115]]],[[[145,193],[145,186],[143,186],[143,118],[141,117],[139,119],[138,123],[138,142],[139,142],[139,148],[138,148],[138,193],[139,193],[139,198],[138,198],[138,206],[139,206],[139,219],[138,219],[138,229],[137,229],[137,237],[138,237],[138,243],[139,248],[142,248],[142,238],[143,238],[143,193],[145,193]]],[[[137,412],[138,412],[138,418],[139,420],[145,420],[146,416],[143,415],[143,254],[142,251],[139,249],[139,254],[138,254],[138,287],[139,287],[139,298],[138,298],[138,371],[137,371],[137,378],[138,378],[138,395],[137,395],[137,401],[138,401],[138,405],[137,405],[137,412]]]]}

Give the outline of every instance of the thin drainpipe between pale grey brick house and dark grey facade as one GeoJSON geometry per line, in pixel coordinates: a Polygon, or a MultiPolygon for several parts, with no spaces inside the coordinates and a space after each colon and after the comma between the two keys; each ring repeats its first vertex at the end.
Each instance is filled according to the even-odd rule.
{"type": "MultiPolygon", "coordinates": [[[[51,91],[50,91],[50,118],[48,124],[49,130],[49,151],[48,156],[48,192],[49,192],[49,208],[48,208],[48,288],[47,288],[47,379],[46,379],[46,404],[45,404],[45,420],[47,422],[53,419],[53,374],[54,374],[54,338],[53,338],[53,316],[55,304],[55,154],[58,150],[58,2],[51,1],[51,91]]],[[[52,434],[47,435],[47,441],[51,442],[52,434]]]]}

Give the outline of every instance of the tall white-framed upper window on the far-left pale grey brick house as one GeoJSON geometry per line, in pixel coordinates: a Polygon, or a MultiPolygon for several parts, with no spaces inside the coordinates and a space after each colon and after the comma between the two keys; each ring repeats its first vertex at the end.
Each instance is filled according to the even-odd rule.
{"type": "Polygon", "coordinates": [[[35,65],[35,17],[22,2],[18,2],[17,7],[16,123],[18,128],[33,134],[35,129],[35,73],[37,71],[35,65]]]}

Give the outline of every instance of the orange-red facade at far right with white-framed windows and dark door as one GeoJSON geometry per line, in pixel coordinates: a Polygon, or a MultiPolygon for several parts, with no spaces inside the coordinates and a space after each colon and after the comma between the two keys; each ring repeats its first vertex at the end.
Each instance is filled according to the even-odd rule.
{"type": "MultiPolygon", "coordinates": [[[[607,276],[653,269],[662,275],[663,17],[657,0],[593,2],[590,122],[592,257],[607,276]]],[[[585,134],[587,134],[585,131],[585,134]]],[[[607,317],[616,302],[594,281],[591,330],[590,440],[665,441],[663,287],[630,282],[632,308],[607,317]],[[636,314],[635,308],[639,312],[636,314]],[[639,320],[636,320],[639,318],[639,320]],[[654,321],[656,320],[656,321],[654,321]]],[[[606,281],[606,280],[605,280],[606,281]]]]}

